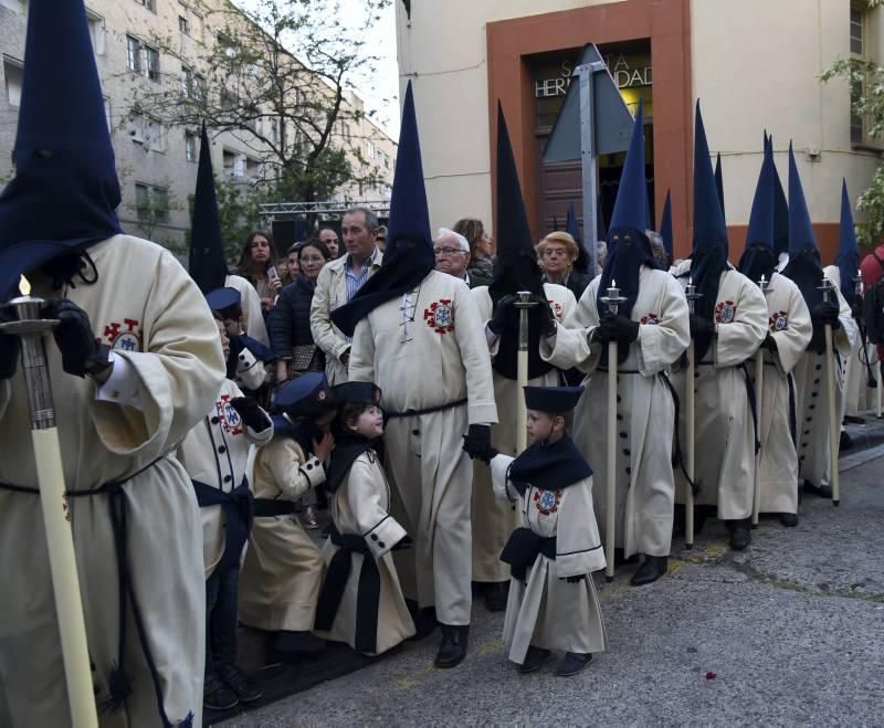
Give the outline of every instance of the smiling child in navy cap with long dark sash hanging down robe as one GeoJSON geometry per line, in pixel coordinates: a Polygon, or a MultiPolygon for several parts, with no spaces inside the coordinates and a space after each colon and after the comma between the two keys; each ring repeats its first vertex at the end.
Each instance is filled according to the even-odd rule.
{"type": "Polygon", "coordinates": [[[375,451],[383,434],[380,389],[347,382],[332,391],[338,404],[325,484],[332,528],[322,551],[326,579],[314,631],[379,655],[414,634],[390,552],[411,539],[390,516],[390,484],[375,451]]]}

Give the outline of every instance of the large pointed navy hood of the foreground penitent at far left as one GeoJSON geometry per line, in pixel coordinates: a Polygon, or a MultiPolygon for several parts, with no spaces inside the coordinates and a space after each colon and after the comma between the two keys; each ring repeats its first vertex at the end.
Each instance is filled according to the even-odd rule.
{"type": "Polygon", "coordinates": [[[122,232],[119,181],[83,0],[29,2],[13,160],[15,177],[0,196],[3,300],[22,274],[50,260],[59,263],[56,279],[70,279],[80,251],[122,232]]]}

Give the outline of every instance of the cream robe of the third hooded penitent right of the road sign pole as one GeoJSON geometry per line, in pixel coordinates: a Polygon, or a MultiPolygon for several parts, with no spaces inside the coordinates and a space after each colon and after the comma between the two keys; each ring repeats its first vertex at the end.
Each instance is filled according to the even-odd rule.
{"type": "MultiPolygon", "coordinates": [[[[765,349],[764,389],[758,392],[761,421],[758,439],[760,513],[798,513],[798,453],[792,432],[794,380],[792,369],[810,342],[810,323],[804,297],[786,276],[774,273],[767,294],[768,330],[777,342],[776,354],[765,349]]],[[[757,381],[755,358],[748,362],[757,381]]]]}

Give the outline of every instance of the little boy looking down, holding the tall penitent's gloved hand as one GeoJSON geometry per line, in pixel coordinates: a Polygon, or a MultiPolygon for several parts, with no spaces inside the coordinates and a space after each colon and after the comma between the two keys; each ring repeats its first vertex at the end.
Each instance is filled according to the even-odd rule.
{"type": "Polygon", "coordinates": [[[591,573],[606,563],[592,509],[592,469],[565,421],[582,391],[526,387],[533,443],[516,458],[491,460],[495,495],[517,503],[523,518],[501,555],[512,566],[504,639],[520,673],[535,672],[559,650],[565,656],[556,674],[576,675],[607,647],[591,573]]]}

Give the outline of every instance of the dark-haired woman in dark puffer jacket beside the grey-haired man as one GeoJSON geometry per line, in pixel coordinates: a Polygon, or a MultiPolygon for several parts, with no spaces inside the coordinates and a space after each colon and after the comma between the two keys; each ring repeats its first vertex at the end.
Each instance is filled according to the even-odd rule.
{"type": "Polygon", "coordinates": [[[278,383],[305,371],[325,370],[325,355],[311,331],[311,304],[319,271],[332,260],[332,253],[323,241],[311,239],[296,245],[294,255],[301,273],[283,288],[269,318],[271,348],[280,357],[278,383]]]}

